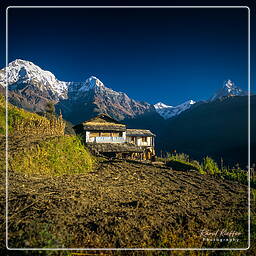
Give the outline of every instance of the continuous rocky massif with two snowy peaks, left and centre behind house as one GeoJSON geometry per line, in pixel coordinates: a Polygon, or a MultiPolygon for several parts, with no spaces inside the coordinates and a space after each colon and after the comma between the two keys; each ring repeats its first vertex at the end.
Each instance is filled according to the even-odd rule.
{"type": "Polygon", "coordinates": [[[25,60],[17,59],[0,71],[2,89],[7,81],[10,103],[41,112],[50,101],[72,123],[84,121],[97,113],[106,113],[123,120],[155,111],[151,104],[135,101],[123,92],[116,92],[94,76],[85,82],[64,82],[51,72],[25,60]]]}

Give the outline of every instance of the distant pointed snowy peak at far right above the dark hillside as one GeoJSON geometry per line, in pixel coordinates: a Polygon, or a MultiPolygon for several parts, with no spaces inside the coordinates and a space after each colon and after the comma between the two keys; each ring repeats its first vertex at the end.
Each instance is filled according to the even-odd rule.
{"type": "Polygon", "coordinates": [[[236,86],[231,80],[227,80],[224,86],[217,91],[210,101],[220,99],[229,96],[245,96],[248,95],[246,91],[243,91],[240,87],[236,86]]]}

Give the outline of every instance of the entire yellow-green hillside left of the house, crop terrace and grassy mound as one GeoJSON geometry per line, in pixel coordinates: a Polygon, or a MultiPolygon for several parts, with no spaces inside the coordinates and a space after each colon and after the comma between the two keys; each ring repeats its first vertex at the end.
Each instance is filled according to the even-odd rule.
{"type": "MultiPolygon", "coordinates": [[[[0,96],[0,134],[5,134],[5,99],[0,96]]],[[[76,136],[63,136],[61,118],[47,119],[8,105],[9,167],[26,174],[61,175],[92,169],[93,159],[76,136]],[[15,135],[15,136],[13,136],[15,135]]],[[[1,138],[1,153],[4,152],[1,138]]],[[[4,157],[3,157],[4,159],[4,157]]],[[[1,162],[1,165],[4,163],[1,162]]]]}

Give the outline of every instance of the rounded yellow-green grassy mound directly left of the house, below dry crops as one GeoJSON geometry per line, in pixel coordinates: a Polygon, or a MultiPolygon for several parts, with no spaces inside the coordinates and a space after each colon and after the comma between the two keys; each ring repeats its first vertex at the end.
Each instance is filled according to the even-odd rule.
{"type": "Polygon", "coordinates": [[[95,160],[77,136],[60,136],[13,154],[9,162],[26,174],[62,175],[88,172],[95,160]]]}

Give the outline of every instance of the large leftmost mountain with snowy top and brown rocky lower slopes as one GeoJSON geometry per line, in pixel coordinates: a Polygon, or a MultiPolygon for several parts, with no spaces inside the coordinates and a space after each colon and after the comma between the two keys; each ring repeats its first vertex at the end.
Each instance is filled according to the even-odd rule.
{"type": "Polygon", "coordinates": [[[49,101],[55,104],[67,97],[68,83],[29,61],[17,59],[1,69],[0,86],[7,83],[9,102],[34,112],[43,111],[49,101]]]}

